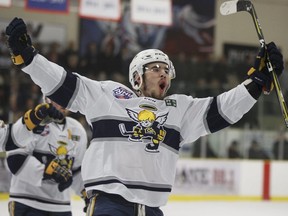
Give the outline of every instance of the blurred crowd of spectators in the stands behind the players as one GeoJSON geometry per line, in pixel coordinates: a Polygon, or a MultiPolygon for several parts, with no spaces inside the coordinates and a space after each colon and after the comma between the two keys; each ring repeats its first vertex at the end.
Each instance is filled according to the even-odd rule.
{"type": "MultiPolygon", "coordinates": [[[[4,35],[1,35],[0,42],[0,119],[5,122],[14,122],[21,117],[24,111],[33,108],[41,102],[42,95],[38,86],[32,83],[28,75],[18,71],[19,69],[11,65],[10,56],[5,45],[4,35]]],[[[128,84],[128,67],[134,53],[129,53],[127,48],[122,47],[115,52],[113,41],[106,41],[105,44],[91,42],[83,55],[80,55],[75,44],[70,42],[66,47],[58,43],[35,44],[37,49],[50,61],[63,66],[67,71],[78,72],[81,75],[96,80],[111,79],[128,84]]],[[[168,53],[169,54],[169,53],[168,53]]],[[[216,96],[241,83],[245,78],[245,72],[253,65],[254,58],[248,58],[245,63],[229,62],[222,56],[221,58],[209,57],[201,58],[198,55],[187,55],[184,52],[170,55],[176,68],[176,79],[172,81],[170,93],[185,93],[193,97],[216,96]]],[[[276,97],[276,96],[275,96],[276,97]]],[[[243,129],[244,127],[261,130],[259,118],[280,115],[276,100],[269,101],[266,97],[264,106],[259,117],[259,107],[256,105],[240,122],[232,128],[243,129]]],[[[271,99],[270,99],[271,100],[271,99]]],[[[82,115],[71,113],[80,120],[86,127],[90,135],[89,126],[82,115]]],[[[263,132],[264,133],[264,132],[263,132]]],[[[249,142],[249,148],[240,151],[241,142],[233,140],[227,146],[227,151],[223,155],[217,153],[213,148],[213,143],[198,140],[189,149],[190,157],[207,158],[234,158],[234,159],[288,159],[288,140],[286,133],[279,132],[275,128],[275,139],[270,143],[270,148],[265,149],[257,139],[249,142]],[[240,147],[239,147],[240,146],[240,147]],[[204,150],[203,150],[204,148],[204,150]]],[[[185,148],[184,148],[185,151],[185,148]]],[[[186,155],[187,155],[186,152],[186,155]]]]}

